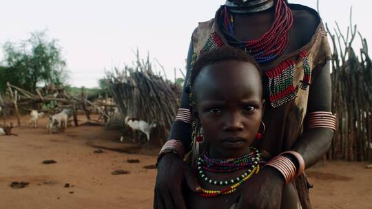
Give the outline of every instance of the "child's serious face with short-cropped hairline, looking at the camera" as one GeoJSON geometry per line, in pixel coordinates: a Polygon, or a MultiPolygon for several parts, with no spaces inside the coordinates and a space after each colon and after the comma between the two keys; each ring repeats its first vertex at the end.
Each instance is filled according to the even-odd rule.
{"type": "Polygon", "coordinates": [[[262,119],[260,74],[251,63],[221,61],[204,67],[194,82],[194,116],[203,126],[211,157],[238,157],[248,151],[262,119]]]}

